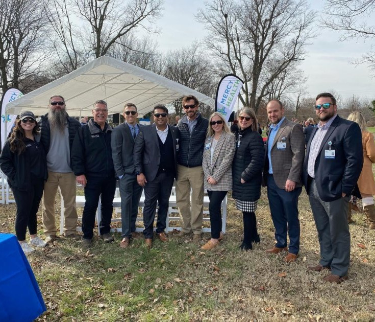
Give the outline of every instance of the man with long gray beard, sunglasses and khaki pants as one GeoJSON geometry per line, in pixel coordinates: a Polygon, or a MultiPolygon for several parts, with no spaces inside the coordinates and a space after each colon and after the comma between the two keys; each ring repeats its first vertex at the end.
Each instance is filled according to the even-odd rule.
{"type": "Polygon", "coordinates": [[[79,121],[68,116],[65,100],[60,95],[49,99],[49,112],[38,120],[41,137],[47,151],[48,180],[43,191],[43,229],[45,242],[57,239],[55,198],[60,187],[64,201],[64,235],[77,239],[76,176],[71,169],[70,153],[74,136],[81,127],[79,121]]]}

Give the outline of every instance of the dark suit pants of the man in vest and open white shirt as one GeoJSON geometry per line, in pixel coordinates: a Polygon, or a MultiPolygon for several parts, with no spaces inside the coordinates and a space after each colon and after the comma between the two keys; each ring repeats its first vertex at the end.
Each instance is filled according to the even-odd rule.
{"type": "Polygon", "coordinates": [[[153,181],[147,182],[144,186],[144,238],[153,238],[154,236],[154,219],[157,202],[159,203],[159,206],[158,220],[156,221],[156,233],[164,232],[168,214],[169,197],[172,191],[173,181],[174,173],[161,172],[153,181]]]}

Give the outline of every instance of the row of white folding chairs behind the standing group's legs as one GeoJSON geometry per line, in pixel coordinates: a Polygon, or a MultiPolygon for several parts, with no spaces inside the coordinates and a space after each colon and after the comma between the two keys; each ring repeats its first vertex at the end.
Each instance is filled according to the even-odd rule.
{"type": "MultiPolygon", "coordinates": [[[[144,193],[142,192],[141,199],[139,201],[139,207],[141,208],[141,213],[143,214],[143,207],[144,207],[144,193]]],[[[204,208],[208,208],[210,199],[207,195],[207,191],[205,190],[205,195],[203,199],[204,203],[204,208]]],[[[227,196],[224,198],[224,200],[221,203],[221,215],[222,215],[222,228],[221,231],[225,234],[226,233],[226,226],[227,226],[227,196]]],[[[76,197],[76,206],[77,208],[83,208],[85,206],[85,197],[84,196],[77,196],[76,197]]],[[[118,214],[121,213],[121,198],[119,195],[119,190],[116,188],[116,193],[115,197],[113,199],[113,207],[114,207],[114,213],[118,214]]],[[[156,214],[157,217],[157,214],[156,214]]],[[[101,214],[101,201],[99,199],[97,211],[96,211],[96,222],[99,223],[101,222],[102,214],[101,214]]],[[[82,217],[78,218],[79,221],[82,221],[82,217]]],[[[143,222],[143,217],[138,216],[137,221],[143,222]]],[[[173,187],[171,195],[169,197],[169,209],[168,209],[168,214],[167,214],[167,219],[166,219],[166,232],[171,232],[174,229],[181,230],[181,227],[179,226],[170,226],[169,222],[170,221],[180,221],[180,216],[179,216],[179,210],[177,209],[177,202],[176,202],[176,189],[173,187]]],[[[203,211],[203,221],[210,221],[210,216],[209,216],[209,211],[204,210],[203,211]]],[[[121,222],[121,217],[117,218],[117,216],[112,217],[112,222],[121,222]]],[[[61,214],[60,214],[60,234],[63,233],[63,226],[64,226],[64,201],[63,198],[61,198],[61,214]]],[[[155,228],[154,228],[155,229],[155,228]]],[[[77,231],[81,232],[82,229],[81,227],[77,227],[77,231]]],[[[203,227],[202,228],[203,232],[211,232],[211,228],[203,227]]],[[[121,227],[116,227],[116,228],[111,228],[111,232],[117,232],[121,233],[121,227]]],[[[136,227],[136,232],[143,232],[142,227],[136,227]]],[[[100,235],[99,229],[98,229],[98,234],[100,235]]]]}

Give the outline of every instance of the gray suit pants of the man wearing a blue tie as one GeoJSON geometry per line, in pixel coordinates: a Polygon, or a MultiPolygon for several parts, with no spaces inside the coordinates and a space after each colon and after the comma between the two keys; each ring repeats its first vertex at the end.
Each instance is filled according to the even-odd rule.
{"type": "Polygon", "coordinates": [[[121,197],[121,237],[131,237],[135,232],[135,222],[138,216],[139,199],[142,187],[138,185],[135,174],[124,174],[118,179],[121,197]]]}

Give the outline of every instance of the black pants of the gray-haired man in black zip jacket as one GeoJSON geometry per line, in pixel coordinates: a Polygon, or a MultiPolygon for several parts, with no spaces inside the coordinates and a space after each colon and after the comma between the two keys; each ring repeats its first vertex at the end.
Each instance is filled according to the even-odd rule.
{"type": "Polygon", "coordinates": [[[102,202],[102,220],[99,223],[101,235],[111,230],[111,219],[113,213],[113,197],[116,191],[115,177],[86,176],[85,206],[82,215],[82,233],[84,239],[92,239],[95,226],[95,213],[99,197],[102,202]],[[101,196],[102,195],[102,196],[101,196]]]}

